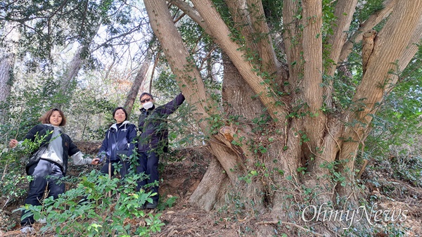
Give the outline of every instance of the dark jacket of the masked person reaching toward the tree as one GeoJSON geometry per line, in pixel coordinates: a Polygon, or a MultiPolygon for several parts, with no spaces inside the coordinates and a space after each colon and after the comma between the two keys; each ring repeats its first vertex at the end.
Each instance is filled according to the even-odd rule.
{"type": "Polygon", "coordinates": [[[138,151],[146,152],[163,146],[163,151],[167,152],[168,146],[168,129],[167,117],[176,111],[177,108],[184,102],[183,94],[179,94],[169,103],[146,110],[141,108],[141,115],[139,115],[139,135],[138,151]]]}

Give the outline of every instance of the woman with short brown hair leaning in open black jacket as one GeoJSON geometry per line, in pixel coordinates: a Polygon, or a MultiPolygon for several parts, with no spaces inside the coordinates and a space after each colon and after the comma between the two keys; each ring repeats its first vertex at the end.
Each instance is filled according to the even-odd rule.
{"type": "MultiPolygon", "coordinates": [[[[27,174],[31,175],[33,179],[30,182],[30,191],[25,204],[31,205],[41,205],[40,200],[42,200],[47,186],[48,196],[53,196],[53,198],[58,198],[60,193],[65,192],[65,183],[60,179],[65,177],[68,170],[69,155],[75,165],[97,165],[99,160],[84,158],[72,139],[67,134],[63,134],[60,129],[60,126],[66,124],[63,111],[53,108],[47,111],[39,121],[42,124],[33,127],[25,136],[25,139],[30,141],[44,138],[26,165],[27,174]]],[[[11,139],[9,146],[15,148],[18,143],[21,142],[11,139]]],[[[26,212],[22,212],[22,217],[26,212]]],[[[23,233],[33,232],[33,223],[33,216],[25,217],[21,221],[23,227],[21,231],[23,233]]]]}

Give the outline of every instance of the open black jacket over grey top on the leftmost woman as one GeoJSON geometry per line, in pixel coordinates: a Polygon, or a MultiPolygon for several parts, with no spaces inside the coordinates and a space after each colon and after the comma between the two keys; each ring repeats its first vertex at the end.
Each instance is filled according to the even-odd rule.
{"type": "MultiPolygon", "coordinates": [[[[39,148],[37,150],[34,150],[32,154],[36,153],[40,148],[48,146],[51,136],[53,135],[53,127],[47,124],[37,124],[35,125],[35,127],[32,127],[30,132],[26,134],[25,139],[29,139],[30,141],[35,141],[37,136],[39,139],[45,136],[46,134],[48,134],[48,136],[46,136],[46,138],[43,139],[39,148]]],[[[60,134],[62,137],[62,146],[63,146],[63,165],[59,165],[59,164],[57,165],[59,165],[62,168],[63,175],[66,175],[66,171],[68,170],[69,155],[75,155],[76,153],[79,152],[79,149],[73,143],[72,139],[70,139],[70,136],[68,136],[68,134],[63,134],[61,131],[60,131],[60,134]]],[[[32,156],[32,154],[31,154],[31,158],[29,162],[27,163],[25,167],[26,172],[28,172],[28,169],[30,168],[31,165],[34,165],[35,163],[39,161],[42,155],[42,154],[39,154],[36,156],[32,156]]]]}

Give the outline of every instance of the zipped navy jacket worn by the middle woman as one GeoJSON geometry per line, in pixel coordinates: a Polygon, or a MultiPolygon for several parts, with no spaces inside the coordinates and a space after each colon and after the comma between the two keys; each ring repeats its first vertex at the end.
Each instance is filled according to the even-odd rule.
{"type": "Polygon", "coordinates": [[[127,157],[132,155],[134,150],[134,139],[136,139],[136,126],[129,121],[124,121],[120,126],[111,125],[106,132],[106,138],[101,144],[98,156],[103,159],[117,161],[120,155],[125,154],[127,157]]]}

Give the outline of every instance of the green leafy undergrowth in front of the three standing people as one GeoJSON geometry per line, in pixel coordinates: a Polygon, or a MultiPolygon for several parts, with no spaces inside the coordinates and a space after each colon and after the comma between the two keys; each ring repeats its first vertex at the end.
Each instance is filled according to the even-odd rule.
{"type": "Polygon", "coordinates": [[[28,214],[34,214],[34,219],[46,218],[41,231],[54,231],[56,236],[150,236],[165,224],[159,213],[143,211],[155,193],[134,191],[139,179],[143,177],[138,174],[123,181],[110,179],[93,170],[76,188],[58,198],[46,198],[42,205],[25,205],[18,210],[30,210],[28,214]]]}

